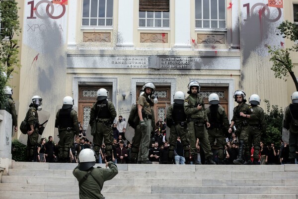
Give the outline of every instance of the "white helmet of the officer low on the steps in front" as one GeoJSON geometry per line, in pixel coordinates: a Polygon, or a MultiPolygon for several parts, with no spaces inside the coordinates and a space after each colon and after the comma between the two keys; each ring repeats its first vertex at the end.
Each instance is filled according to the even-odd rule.
{"type": "Polygon", "coordinates": [[[81,171],[87,171],[95,165],[95,152],[92,149],[83,149],[78,155],[78,168],[81,171]]]}

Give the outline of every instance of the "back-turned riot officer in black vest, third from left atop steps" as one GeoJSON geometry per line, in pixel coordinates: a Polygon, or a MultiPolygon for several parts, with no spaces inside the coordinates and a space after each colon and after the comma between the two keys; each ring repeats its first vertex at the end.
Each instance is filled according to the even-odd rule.
{"type": "Polygon", "coordinates": [[[70,149],[74,145],[74,134],[76,137],[79,133],[79,126],[77,121],[77,113],[73,109],[74,99],[66,96],[63,99],[62,108],[56,114],[55,127],[59,131],[58,142],[58,161],[69,162],[70,149]]]}

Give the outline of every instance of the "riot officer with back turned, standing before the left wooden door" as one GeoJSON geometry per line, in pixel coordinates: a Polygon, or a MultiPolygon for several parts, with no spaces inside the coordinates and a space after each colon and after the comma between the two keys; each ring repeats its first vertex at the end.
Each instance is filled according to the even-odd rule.
{"type": "Polygon", "coordinates": [[[98,157],[99,150],[104,139],[106,146],[106,160],[112,160],[112,143],[113,143],[113,129],[112,124],[117,116],[114,104],[108,100],[108,92],[106,89],[99,89],[97,91],[97,101],[92,105],[90,111],[91,135],[93,135],[94,151],[98,157]],[[96,122],[95,125],[92,125],[96,122]],[[96,129],[94,129],[96,128],[96,129]]]}

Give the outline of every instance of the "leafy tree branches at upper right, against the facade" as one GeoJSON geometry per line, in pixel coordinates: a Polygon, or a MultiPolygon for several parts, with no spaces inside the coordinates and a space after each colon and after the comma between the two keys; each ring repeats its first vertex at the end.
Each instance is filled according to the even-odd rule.
{"type": "MultiPolygon", "coordinates": [[[[298,26],[295,23],[286,20],[278,26],[278,29],[283,38],[288,38],[291,41],[298,40],[298,26]]],[[[274,71],[275,78],[283,78],[286,81],[287,79],[284,77],[287,77],[290,74],[296,90],[298,91],[298,82],[293,72],[294,65],[290,57],[291,52],[298,52],[298,45],[294,45],[290,48],[268,46],[268,52],[270,54],[270,61],[273,62],[271,70],[274,71]]]]}

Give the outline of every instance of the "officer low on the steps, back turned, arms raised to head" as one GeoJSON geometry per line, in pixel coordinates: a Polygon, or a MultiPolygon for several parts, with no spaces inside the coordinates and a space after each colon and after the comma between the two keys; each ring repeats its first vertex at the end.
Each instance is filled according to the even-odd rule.
{"type": "Polygon", "coordinates": [[[73,175],[78,181],[79,199],[104,199],[101,194],[103,183],[118,174],[118,168],[113,162],[107,162],[109,169],[95,165],[95,153],[92,149],[83,149],[78,155],[78,166],[73,175]]]}

